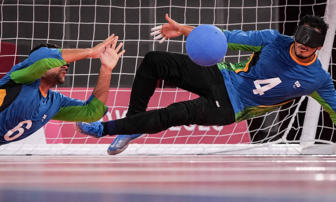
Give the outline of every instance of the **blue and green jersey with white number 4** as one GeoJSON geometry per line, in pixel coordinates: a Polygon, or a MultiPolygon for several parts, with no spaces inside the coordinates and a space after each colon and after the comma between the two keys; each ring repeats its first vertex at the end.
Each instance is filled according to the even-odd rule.
{"type": "Polygon", "coordinates": [[[277,30],[223,31],[229,49],[254,52],[244,62],[218,64],[237,122],[310,95],[336,124],[336,91],[316,54],[309,63],[297,61],[290,52],[294,38],[277,30]]]}

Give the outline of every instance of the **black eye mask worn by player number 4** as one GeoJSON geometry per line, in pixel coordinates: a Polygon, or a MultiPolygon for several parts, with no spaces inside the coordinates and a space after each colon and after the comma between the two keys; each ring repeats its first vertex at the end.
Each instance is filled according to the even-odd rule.
{"type": "Polygon", "coordinates": [[[296,26],[294,36],[297,42],[307,45],[311,48],[323,46],[324,39],[326,38],[319,31],[303,25],[296,26]]]}

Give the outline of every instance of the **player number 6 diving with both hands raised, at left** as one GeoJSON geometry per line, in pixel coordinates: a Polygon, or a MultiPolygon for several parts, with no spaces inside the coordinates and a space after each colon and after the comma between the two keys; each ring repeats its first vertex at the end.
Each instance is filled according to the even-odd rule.
{"type": "Polygon", "coordinates": [[[105,104],[111,72],[125,53],[125,50],[118,53],[122,43],[116,48],[117,40],[112,34],[87,49],[61,49],[49,43],[35,46],[25,61],[13,66],[0,79],[0,145],[28,137],[51,119],[99,120],[108,109],[105,104]],[[99,78],[87,101],[50,90],[64,83],[69,63],[98,57],[101,61],[99,78]]]}

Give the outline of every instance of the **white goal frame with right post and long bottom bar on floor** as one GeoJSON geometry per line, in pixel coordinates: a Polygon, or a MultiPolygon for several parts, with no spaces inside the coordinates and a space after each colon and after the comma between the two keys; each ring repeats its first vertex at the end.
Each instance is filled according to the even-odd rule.
{"type": "MultiPolygon", "coordinates": [[[[324,20],[329,24],[324,47],[318,57],[328,71],[336,32],[336,2],[327,0],[324,20]]],[[[183,22],[181,22],[183,23],[183,22]]],[[[154,45],[153,45],[154,48],[154,45]]],[[[168,49],[168,48],[167,48],[168,49]]],[[[130,144],[120,155],[299,155],[299,154],[336,154],[336,143],[316,140],[315,135],[321,105],[310,97],[301,97],[294,115],[284,135],[276,140],[261,144],[130,144]],[[292,128],[301,103],[308,99],[308,105],[300,140],[289,141],[287,134],[292,128]],[[314,143],[326,144],[314,144],[314,143]]],[[[0,155],[107,155],[109,144],[25,144],[10,143],[1,150],[0,155]]]]}

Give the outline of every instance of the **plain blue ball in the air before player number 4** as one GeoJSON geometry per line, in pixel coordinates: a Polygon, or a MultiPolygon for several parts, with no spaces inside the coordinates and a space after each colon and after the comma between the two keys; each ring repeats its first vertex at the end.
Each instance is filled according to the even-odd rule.
{"type": "Polygon", "coordinates": [[[227,50],[227,40],[218,27],[200,25],[188,35],[185,49],[194,63],[212,66],[223,60],[227,50]]]}

